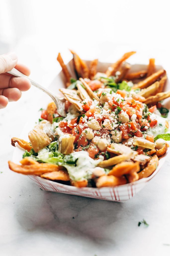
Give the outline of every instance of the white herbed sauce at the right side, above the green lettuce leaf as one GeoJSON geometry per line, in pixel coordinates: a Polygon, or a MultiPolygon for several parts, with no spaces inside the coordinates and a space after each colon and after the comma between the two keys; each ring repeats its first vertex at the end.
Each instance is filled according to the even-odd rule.
{"type": "Polygon", "coordinates": [[[167,118],[163,118],[160,113],[155,112],[150,115],[150,119],[156,119],[158,122],[153,128],[149,127],[149,129],[146,131],[148,135],[153,135],[156,137],[158,134],[164,134],[167,132],[167,128],[165,126],[165,121],[168,121],[167,118]]]}

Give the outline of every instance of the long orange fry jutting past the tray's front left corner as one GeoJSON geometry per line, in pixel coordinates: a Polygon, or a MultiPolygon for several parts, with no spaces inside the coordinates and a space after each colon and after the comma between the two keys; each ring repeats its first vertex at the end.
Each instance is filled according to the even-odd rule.
{"type": "Polygon", "coordinates": [[[9,169],[25,175],[41,175],[43,173],[55,172],[60,170],[60,166],[56,164],[31,164],[31,165],[19,165],[8,161],[9,169]]]}

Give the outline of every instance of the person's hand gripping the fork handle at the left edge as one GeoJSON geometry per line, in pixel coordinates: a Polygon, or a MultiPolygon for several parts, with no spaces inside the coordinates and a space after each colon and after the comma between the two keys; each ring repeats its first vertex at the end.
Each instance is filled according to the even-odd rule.
{"type": "Polygon", "coordinates": [[[9,101],[19,100],[21,91],[27,91],[31,87],[31,82],[27,78],[13,77],[6,73],[15,67],[29,76],[30,70],[17,62],[18,57],[13,52],[0,55],[0,109],[5,108],[9,101]]]}

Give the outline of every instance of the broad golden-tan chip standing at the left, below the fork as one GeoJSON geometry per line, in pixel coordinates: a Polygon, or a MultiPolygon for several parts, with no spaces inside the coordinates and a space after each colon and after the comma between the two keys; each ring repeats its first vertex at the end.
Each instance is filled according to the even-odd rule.
{"type": "Polygon", "coordinates": [[[54,140],[54,136],[50,130],[49,133],[51,134],[48,134],[49,136],[44,132],[45,127],[48,129],[47,123],[38,124],[28,134],[29,140],[35,152],[38,152],[40,149],[48,146],[49,143],[54,140]]]}

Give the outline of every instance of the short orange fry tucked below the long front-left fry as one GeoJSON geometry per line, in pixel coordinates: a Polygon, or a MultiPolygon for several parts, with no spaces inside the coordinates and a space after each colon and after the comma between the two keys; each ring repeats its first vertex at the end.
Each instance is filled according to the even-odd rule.
{"type": "Polygon", "coordinates": [[[50,179],[50,180],[63,180],[63,181],[70,180],[67,170],[58,170],[51,173],[44,173],[44,174],[41,174],[40,177],[45,179],[50,179]]]}

